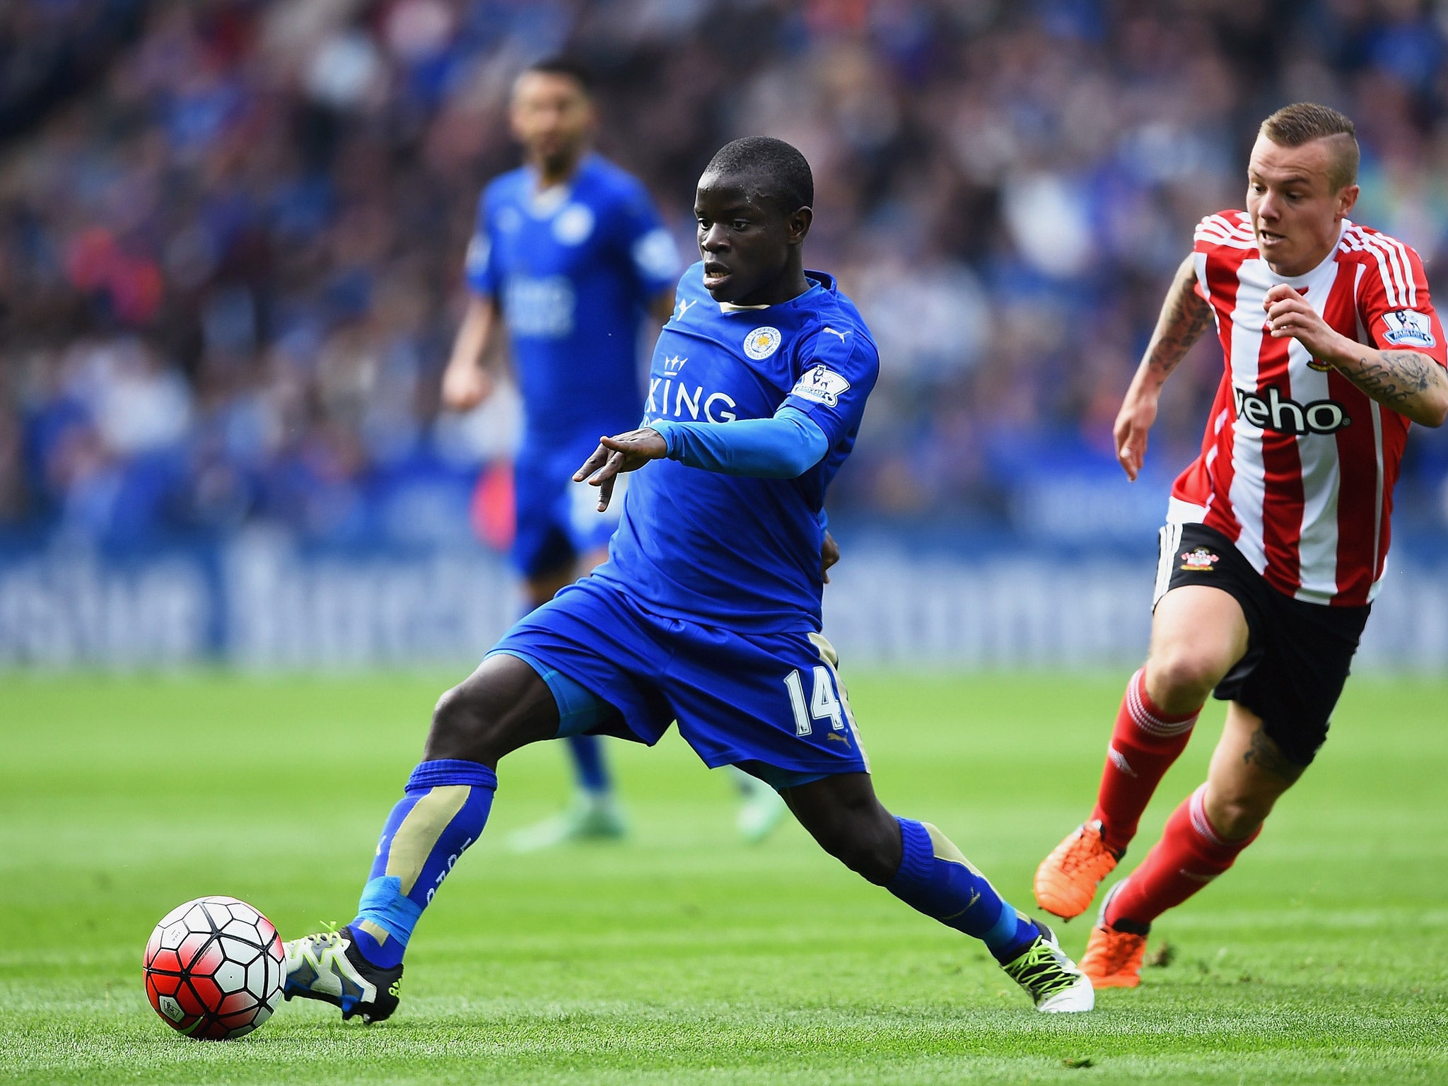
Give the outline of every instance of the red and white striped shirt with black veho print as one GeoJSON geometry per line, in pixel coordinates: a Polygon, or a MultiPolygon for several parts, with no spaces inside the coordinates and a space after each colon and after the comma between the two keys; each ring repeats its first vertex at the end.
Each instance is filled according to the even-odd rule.
{"type": "Polygon", "coordinates": [[[1344,220],[1322,264],[1277,275],[1244,211],[1203,219],[1193,259],[1226,369],[1202,455],[1173,485],[1167,518],[1216,529],[1273,588],[1297,599],[1370,602],[1387,557],[1407,418],[1296,339],[1273,339],[1263,298],[1286,282],[1348,339],[1448,365],[1422,261],[1402,242],[1344,220]]]}

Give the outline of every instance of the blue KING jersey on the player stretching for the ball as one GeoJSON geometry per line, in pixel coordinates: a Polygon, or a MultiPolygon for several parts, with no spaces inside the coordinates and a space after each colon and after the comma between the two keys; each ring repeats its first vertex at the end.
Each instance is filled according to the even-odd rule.
{"type": "Polygon", "coordinates": [[[679,281],[653,352],[644,426],[727,426],[788,404],[830,450],[796,479],[757,479],[654,460],[628,476],[624,515],[595,576],[641,605],[740,630],[820,628],[824,495],[854,447],[879,352],[854,303],[822,272],[767,307],[714,301],[704,265],[679,281]]]}

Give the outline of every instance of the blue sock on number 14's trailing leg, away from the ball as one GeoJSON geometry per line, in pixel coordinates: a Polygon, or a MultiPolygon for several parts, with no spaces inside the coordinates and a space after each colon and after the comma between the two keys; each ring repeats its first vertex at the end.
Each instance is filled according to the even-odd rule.
{"type": "Polygon", "coordinates": [[[1001,964],[1019,957],[1041,934],[995,892],[985,875],[930,822],[901,824],[901,869],[886,885],[891,893],[946,927],[975,935],[1001,964]]]}

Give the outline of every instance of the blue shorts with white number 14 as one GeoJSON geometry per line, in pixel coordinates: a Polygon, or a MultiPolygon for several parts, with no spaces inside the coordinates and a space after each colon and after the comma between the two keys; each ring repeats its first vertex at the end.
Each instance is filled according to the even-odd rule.
{"type": "Polygon", "coordinates": [[[518,621],[494,652],[556,670],[607,702],[592,718],[568,714],[563,728],[582,720],[588,731],[653,746],[678,721],[707,766],[737,765],[776,788],[870,772],[834,649],[808,627],[701,626],[653,614],[588,576],[518,621]]]}

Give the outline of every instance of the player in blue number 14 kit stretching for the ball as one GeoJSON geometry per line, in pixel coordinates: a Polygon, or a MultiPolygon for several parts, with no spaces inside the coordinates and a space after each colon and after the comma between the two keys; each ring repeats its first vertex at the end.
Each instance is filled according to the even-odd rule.
{"type": "Polygon", "coordinates": [[[723,148],[695,198],[702,262],[654,348],[644,427],[576,479],[624,497],[608,562],[523,618],[443,695],[356,918],[287,944],[287,995],[376,1021],[397,1006],[418,915],[482,833],[498,760],[555,736],[653,744],[678,721],[710,766],[779,789],[833,856],[985,941],[1041,1011],[1086,1011],[1086,977],[935,827],[895,818],[820,633],[822,505],[879,359],[854,304],[805,272],[814,184],[776,139],[723,148]],[[641,469],[641,471],[640,471],[641,469]]]}

